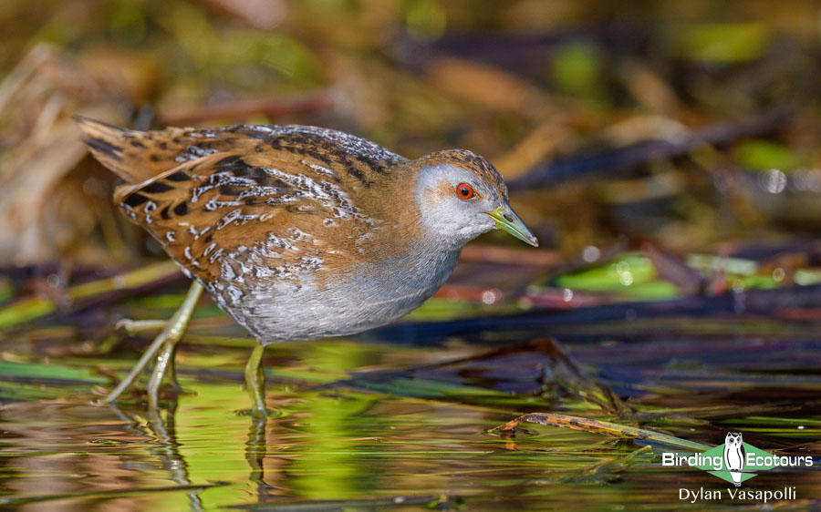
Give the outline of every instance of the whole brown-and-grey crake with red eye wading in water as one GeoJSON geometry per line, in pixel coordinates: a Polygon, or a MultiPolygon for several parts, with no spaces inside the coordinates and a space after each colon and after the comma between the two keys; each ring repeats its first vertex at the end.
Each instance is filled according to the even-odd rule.
{"type": "Polygon", "coordinates": [[[409,160],[347,133],[304,126],[140,132],[78,118],[91,153],[125,182],[114,200],[194,280],[117,399],[157,355],[156,407],[203,288],[254,334],[245,367],[265,415],[265,345],[359,333],[421,305],[462,246],[494,227],[537,245],[486,159],[453,149],[409,160]]]}

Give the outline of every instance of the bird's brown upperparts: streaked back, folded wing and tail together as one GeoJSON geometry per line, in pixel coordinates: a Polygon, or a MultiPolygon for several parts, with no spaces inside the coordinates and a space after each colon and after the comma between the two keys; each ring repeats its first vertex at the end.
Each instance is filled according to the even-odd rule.
{"type": "Polygon", "coordinates": [[[78,122],[95,157],[127,181],[115,192],[122,210],[220,302],[308,274],[333,285],[341,267],[400,253],[412,238],[379,229],[418,214],[384,200],[412,189],[397,179],[408,160],[368,140],[301,126],[78,122]]]}

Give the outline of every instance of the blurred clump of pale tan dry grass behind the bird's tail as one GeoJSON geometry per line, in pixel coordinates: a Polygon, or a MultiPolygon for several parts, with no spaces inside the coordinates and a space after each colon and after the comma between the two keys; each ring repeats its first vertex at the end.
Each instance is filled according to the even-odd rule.
{"type": "Polygon", "coordinates": [[[115,120],[109,101],[117,98],[76,56],[45,45],[0,82],[0,262],[36,263],[74,251],[82,259],[82,251],[94,251],[89,233],[98,221],[84,190],[96,182],[75,170],[87,149],[70,116],[88,110],[115,120]]]}

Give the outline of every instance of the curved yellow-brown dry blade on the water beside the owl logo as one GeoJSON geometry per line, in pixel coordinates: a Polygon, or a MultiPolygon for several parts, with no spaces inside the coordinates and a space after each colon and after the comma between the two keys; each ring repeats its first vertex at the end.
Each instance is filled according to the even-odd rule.
{"type": "Polygon", "coordinates": [[[673,435],[660,434],[644,428],[636,428],[635,426],[618,425],[615,423],[593,420],[580,416],[555,415],[553,413],[532,413],[530,415],[521,415],[504,425],[495,427],[494,430],[501,433],[512,434],[515,432],[516,427],[524,422],[539,425],[561,426],[563,428],[582,430],[592,434],[609,435],[612,437],[620,437],[622,439],[634,439],[647,443],[674,446],[677,448],[696,450],[700,452],[709,450],[712,447],[701,445],[701,443],[695,443],[686,439],[681,439],[673,435]]]}

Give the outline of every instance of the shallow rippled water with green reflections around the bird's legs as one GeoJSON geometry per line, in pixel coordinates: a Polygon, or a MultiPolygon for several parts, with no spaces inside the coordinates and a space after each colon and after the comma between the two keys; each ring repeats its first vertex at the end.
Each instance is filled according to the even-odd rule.
{"type": "MultiPolygon", "coordinates": [[[[635,323],[629,335],[586,329],[567,334],[567,348],[585,371],[631,397],[637,414],[664,411],[644,426],[707,445],[739,429],[745,441],[768,451],[817,454],[821,417],[813,400],[821,378],[796,367],[814,365],[808,358],[817,361],[819,343],[785,334],[659,338],[639,334],[635,323]],[[660,344],[666,353],[652,350],[660,344]],[[771,353],[770,364],[777,363],[785,350],[805,355],[790,358],[791,376],[756,373],[753,361],[771,353]],[[738,364],[723,364],[730,353],[741,355],[738,364]]],[[[192,332],[196,338],[196,323],[192,332]]],[[[109,384],[88,368],[124,371],[143,342],[128,343],[130,352],[120,357],[5,363],[5,507],[676,509],[687,503],[680,488],[726,488],[698,469],[661,467],[659,446],[654,455],[629,440],[544,425],[522,425],[514,438],[492,432],[534,411],[618,421],[582,398],[586,384],[574,382],[550,342],[283,343],[269,348],[265,360],[267,400],[275,409],[265,425],[242,412],[245,340],[183,343],[184,393],[165,400],[158,414],[140,396],[119,407],[93,404],[109,384]]],[[[821,496],[818,475],[769,472],[745,486],[795,486],[799,501],[783,502],[795,506],[821,496]]],[[[730,504],[726,494],[723,500],[700,500],[697,507],[730,504]]]]}

